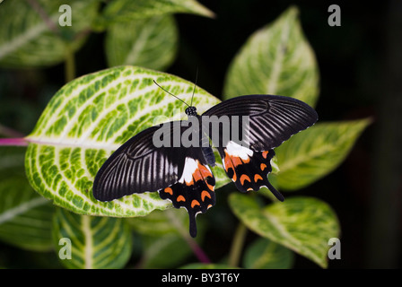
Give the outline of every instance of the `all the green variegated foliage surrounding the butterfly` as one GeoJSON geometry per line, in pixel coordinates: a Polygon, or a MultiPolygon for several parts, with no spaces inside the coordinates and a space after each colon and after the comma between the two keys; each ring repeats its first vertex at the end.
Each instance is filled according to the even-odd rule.
{"type": "MultiPolygon", "coordinates": [[[[93,198],[93,178],[111,152],[156,124],[155,117],[160,123],[185,116],[182,103],[153,84],[157,81],[186,101],[193,93],[193,83],[156,71],[167,69],[177,55],[179,31],[172,13],[214,13],[194,0],[84,3],[69,2],[77,19],[71,27],[49,25],[57,23],[62,1],[1,4],[0,65],[35,68],[66,61],[68,66],[96,30],[106,34],[109,68],[69,81],[57,91],[25,137],[28,147],[1,147],[0,239],[17,248],[53,248],[56,253],[59,239],[71,239],[72,259],[61,260],[67,268],[121,268],[138,255],[140,267],[290,268],[294,253],[327,267],[328,239],[340,236],[340,226],[336,213],[319,198],[286,195],[284,203],[278,203],[267,191],[240,195],[231,186],[229,206],[246,227],[236,232],[233,242],[242,242],[247,230],[258,238],[244,248],[241,263],[231,254],[229,262],[214,264],[200,248],[208,225],[201,222],[197,242],[190,239],[187,214],[170,209],[156,193],[110,203],[93,198]],[[174,114],[177,109],[179,116],[174,114]],[[187,261],[191,251],[201,263],[187,261]]],[[[319,100],[319,68],[296,7],[252,34],[233,58],[223,99],[251,93],[295,97],[311,106],[319,100]]],[[[217,102],[197,87],[193,103],[199,112],[217,102]]],[[[272,182],[281,190],[296,191],[325,177],[345,160],[369,124],[369,119],[320,122],[294,135],[275,149],[272,182]]],[[[230,182],[219,161],[213,171],[217,187],[230,182]]],[[[233,243],[231,252],[241,249],[233,243]]]]}

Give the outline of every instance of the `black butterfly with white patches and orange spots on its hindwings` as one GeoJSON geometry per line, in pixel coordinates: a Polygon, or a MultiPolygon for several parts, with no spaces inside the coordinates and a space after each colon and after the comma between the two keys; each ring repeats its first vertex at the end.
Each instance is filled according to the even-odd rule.
{"type": "Polygon", "coordinates": [[[227,117],[230,127],[242,125],[243,119],[248,119],[249,134],[241,140],[235,139],[223,125],[218,125],[217,135],[221,137],[219,142],[213,139],[214,146],[220,153],[226,174],[240,192],[268,187],[280,201],[284,201],[284,196],[267,178],[272,171],[270,161],[275,155],[274,148],[318,119],[316,111],[301,100],[272,95],[225,100],[202,116],[189,105],[186,114],[188,120],[149,127],[120,146],[98,171],[93,182],[93,196],[100,201],[111,201],[135,193],[157,191],[174,207],[187,209],[189,232],[196,237],[197,213],[205,213],[215,204],[215,179],[209,168],[209,165],[214,166],[214,152],[209,141],[212,130],[205,129],[209,131],[205,133],[203,127],[213,126],[216,122],[205,124],[204,118],[227,117]],[[192,143],[198,144],[175,144],[174,141],[186,133],[191,134],[188,138],[192,143]],[[170,144],[155,146],[155,135],[164,135],[163,140],[170,144]],[[225,139],[223,135],[228,136],[225,139]]]}

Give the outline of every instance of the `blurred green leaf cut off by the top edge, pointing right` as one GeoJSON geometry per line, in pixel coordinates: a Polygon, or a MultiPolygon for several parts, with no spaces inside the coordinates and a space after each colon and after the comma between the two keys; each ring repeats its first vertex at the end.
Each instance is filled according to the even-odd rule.
{"type": "Polygon", "coordinates": [[[213,12],[195,0],[114,0],[106,6],[100,25],[144,19],[166,13],[194,13],[214,17],[213,12]]]}

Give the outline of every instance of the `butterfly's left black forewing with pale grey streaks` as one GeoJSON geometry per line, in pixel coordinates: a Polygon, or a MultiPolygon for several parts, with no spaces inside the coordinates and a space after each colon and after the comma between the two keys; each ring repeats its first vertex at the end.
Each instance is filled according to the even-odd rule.
{"type": "Polygon", "coordinates": [[[93,196],[111,201],[122,196],[157,191],[178,181],[184,154],[173,144],[156,147],[153,135],[160,132],[173,138],[176,122],[152,126],[133,136],[113,152],[93,182],[93,196]]]}

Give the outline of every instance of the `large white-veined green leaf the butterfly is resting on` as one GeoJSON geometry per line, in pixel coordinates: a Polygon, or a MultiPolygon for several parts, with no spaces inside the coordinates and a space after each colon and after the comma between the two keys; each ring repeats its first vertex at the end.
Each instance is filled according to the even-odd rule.
{"type": "MultiPolygon", "coordinates": [[[[193,83],[135,66],[110,68],[67,83],[26,137],[30,144],[25,169],[31,186],[55,204],[81,214],[141,216],[171,207],[156,192],[109,203],[92,196],[93,178],[122,143],[149,126],[185,117],[183,103],[153,80],[190,102],[193,83]]],[[[218,102],[200,88],[194,93],[193,104],[200,113],[218,102]]],[[[216,181],[229,182],[227,177],[216,181]]]]}

